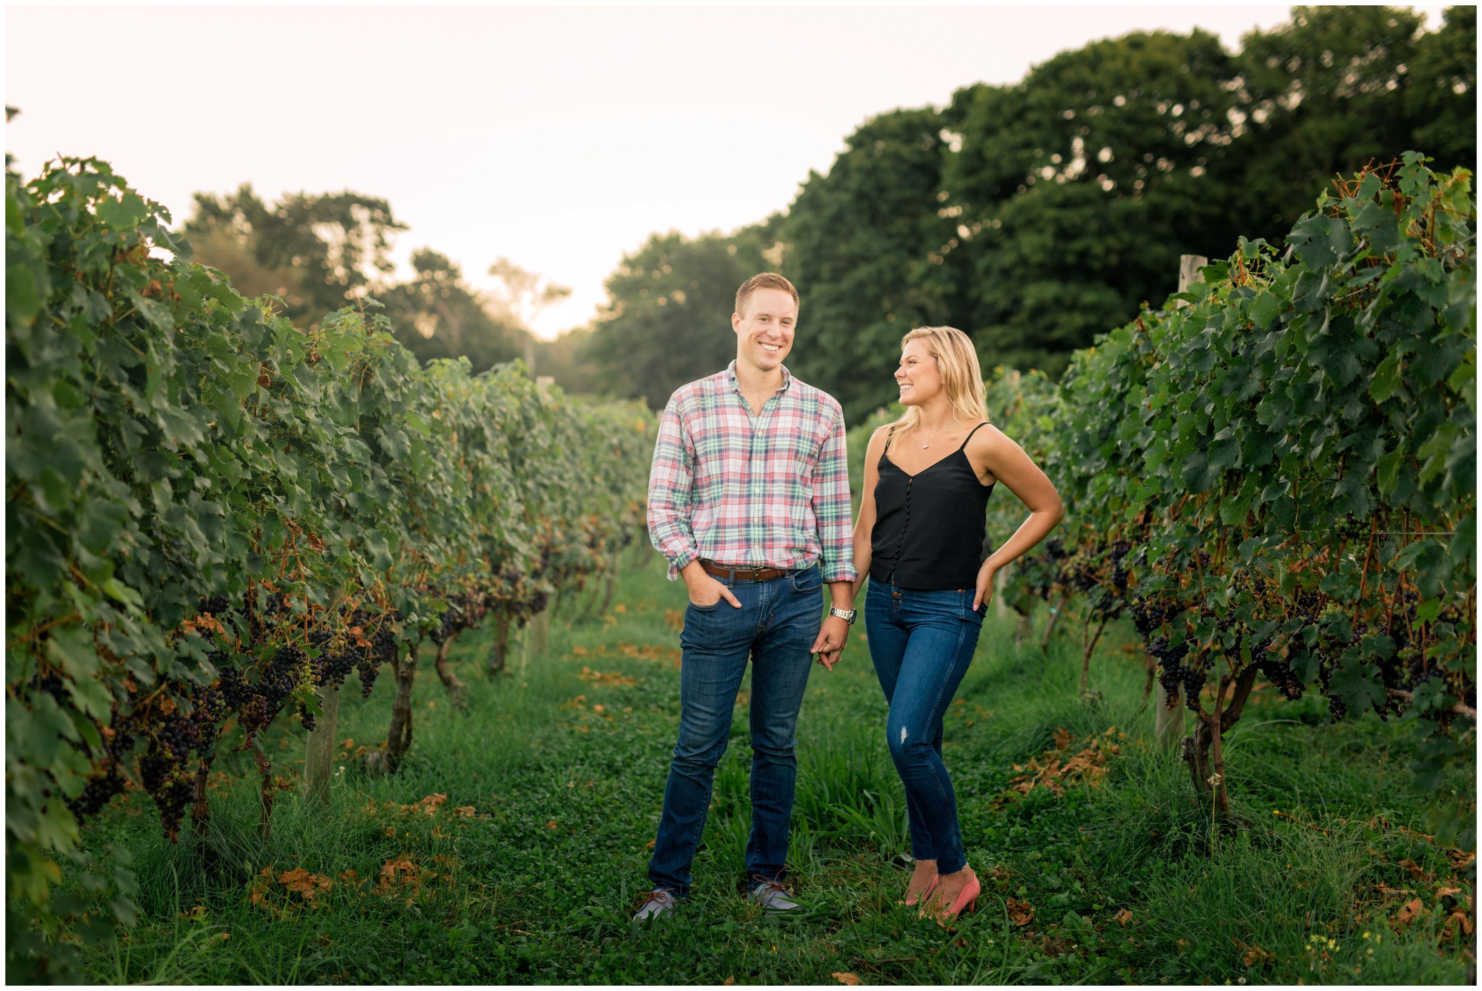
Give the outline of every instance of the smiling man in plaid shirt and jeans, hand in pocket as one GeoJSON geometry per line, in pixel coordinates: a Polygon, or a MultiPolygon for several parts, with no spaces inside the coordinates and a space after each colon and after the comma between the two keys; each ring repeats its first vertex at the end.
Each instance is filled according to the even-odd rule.
{"type": "Polygon", "coordinates": [[[793,812],[797,710],[812,655],[833,670],[854,622],[849,470],[839,403],[782,367],[797,290],[772,273],[737,290],[737,358],[680,387],[664,407],[648,524],[668,576],[689,588],[680,723],[636,918],[689,895],[716,764],[751,659],[751,838],[747,896],[797,908],[782,878],[793,812]],[[834,609],[820,624],[821,585],[834,609]]]}

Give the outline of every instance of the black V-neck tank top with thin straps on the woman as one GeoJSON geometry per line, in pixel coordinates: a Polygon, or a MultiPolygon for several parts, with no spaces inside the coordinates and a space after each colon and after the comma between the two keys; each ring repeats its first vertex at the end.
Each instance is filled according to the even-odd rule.
{"type": "Polygon", "coordinates": [[[870,581],[938,591],[972,588],[983,566],[991,484],[978,481],[968,441],[929,468],[908,476],[889,459],[895,428],[880,452],[870,532],[870,581]]]}

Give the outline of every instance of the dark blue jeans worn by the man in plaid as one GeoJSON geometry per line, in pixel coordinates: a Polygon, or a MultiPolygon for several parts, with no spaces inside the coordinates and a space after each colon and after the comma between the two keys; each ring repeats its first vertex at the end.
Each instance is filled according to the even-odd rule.
{"type": "Polygon", "coordinates": [[[797,784],[797,710],[812,667],[809,647],[823,627],[818,567],[765,582],[717,579],[741,601],[691,604],[680,634],[679,742],[664,787],[664,815],[649,861],[654,887],[689,895],[689,865],[710,809],[716,766],[731,738],[737,690],[751,659],[750,875],[787,872],[787,824],[797,784]]]}

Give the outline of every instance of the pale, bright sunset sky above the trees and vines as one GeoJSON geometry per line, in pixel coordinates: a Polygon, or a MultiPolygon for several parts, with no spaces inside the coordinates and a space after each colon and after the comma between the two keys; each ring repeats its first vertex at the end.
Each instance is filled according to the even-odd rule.
{"type": "MultiPolygon", "coordinates": [[[[1427,27],[1441,6],[1417,7],[1427,27]]],[[[1202,27],[1236,49],[1285,6],[7,6],[6,150],[98,156],[176,222],[250,182],[384,197],[474,286],[499,256],[588,321],[655,231],[729,231],[897,107],[1020,80],[1094,39],[1202,27]]]]}

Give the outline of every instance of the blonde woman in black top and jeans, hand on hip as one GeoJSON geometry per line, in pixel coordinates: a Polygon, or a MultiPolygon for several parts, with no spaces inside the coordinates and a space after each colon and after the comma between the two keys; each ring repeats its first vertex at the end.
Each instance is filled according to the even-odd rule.
{"type": "Polygon", "coordinates": [[[1039,544],[1064,511],[1029,455],[986,422],[972,341],[953,327],[901,339],[895,370],[906,415],[870,437],[854,560],[864,619],[891,704],[886,736],[906,785],[916,870],[906,904],[956,915],[981,892],[968,867],[957,803],[941,760],[941,724],[978,644],[993,575],[1039,544]],[[984,514],[1002,481],[1029,520],[983,560],[984,514]]]}

